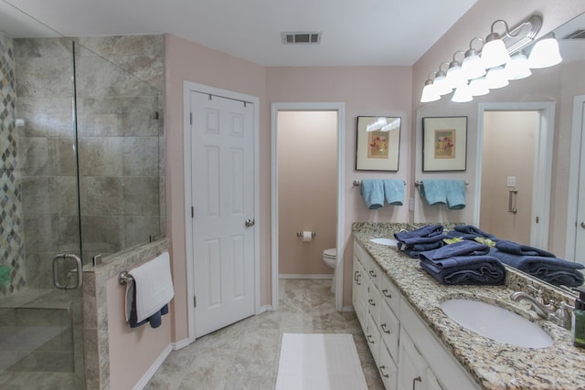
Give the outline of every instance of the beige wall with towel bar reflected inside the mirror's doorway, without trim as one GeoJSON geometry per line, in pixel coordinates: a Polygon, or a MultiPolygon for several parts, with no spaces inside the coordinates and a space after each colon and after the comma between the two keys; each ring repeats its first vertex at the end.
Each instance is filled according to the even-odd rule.
{"type": "Polygon", "coordinates": [[[538,111],[484,111],[480,228],[530,244],[538,111]]]}

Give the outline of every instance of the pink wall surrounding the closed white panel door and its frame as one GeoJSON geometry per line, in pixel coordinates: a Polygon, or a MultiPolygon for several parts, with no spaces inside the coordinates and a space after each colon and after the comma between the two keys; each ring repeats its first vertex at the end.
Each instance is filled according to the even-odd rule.
{"type": "Polygon", "coordinates": [[[186,297],[185,176],[183,153],[183,83],[205,84],[260,98],[261,210],[256,220],[261,235],[261,304],[270,302],[270,127],[266,100],[266,69],[240,58],[172,35],[165,36],[165,132],[168,237],[171,242],[176,297],[175,341],[188,337],[186,297]]]}

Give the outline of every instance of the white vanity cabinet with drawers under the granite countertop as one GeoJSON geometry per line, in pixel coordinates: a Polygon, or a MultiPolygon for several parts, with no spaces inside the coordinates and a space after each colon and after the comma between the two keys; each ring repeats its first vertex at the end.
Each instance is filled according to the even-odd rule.
{"type": "Polygon", "coordinates": [[[480,388],[357,241],[353,267],[353,305],[386,389],[480,388]]]}

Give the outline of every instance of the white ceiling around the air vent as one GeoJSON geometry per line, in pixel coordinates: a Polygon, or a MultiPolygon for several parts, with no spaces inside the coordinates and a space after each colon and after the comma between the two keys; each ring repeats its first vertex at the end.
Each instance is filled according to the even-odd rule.
{"type": "Polygon", "coordinates": [[[0,0],[0,30],[30,34],[3,18],[14,5],[68,37],[171,33],[263,66],[410,66],[476,1],[0,0]],[[283,45],[283,31],[322,40],[283,45]]]}

